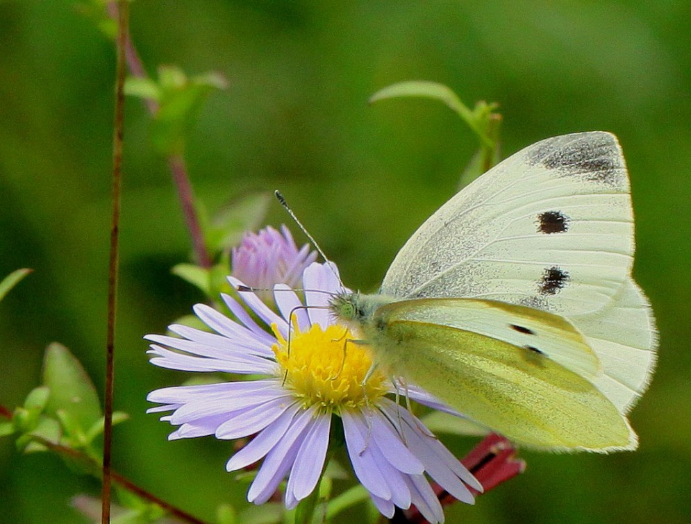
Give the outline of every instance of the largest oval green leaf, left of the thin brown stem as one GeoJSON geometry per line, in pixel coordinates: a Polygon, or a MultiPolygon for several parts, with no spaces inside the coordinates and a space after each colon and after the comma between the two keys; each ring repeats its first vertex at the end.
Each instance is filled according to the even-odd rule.
{"type": "Polygon", "coordinates": [[[81,363],[62,344],[53,342],[46,348],[43,383],[51,390],[47,414],[67,414],[84,433],[103,416],[94,384],[81,363]]]}

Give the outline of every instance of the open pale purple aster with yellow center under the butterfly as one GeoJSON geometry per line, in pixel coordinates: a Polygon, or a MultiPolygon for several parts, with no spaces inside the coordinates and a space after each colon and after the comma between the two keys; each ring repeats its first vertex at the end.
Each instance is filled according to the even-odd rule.
{"type": "MultiPolygon", "coordinates": [[[[244,283],[229,280],[233,286],[244,283]]],[[[241,303],[223,295],[237,320],[208,305],[194,307],[215,333],[173,325],[169,329],[181,338],[146,337],[153,342],[149,354],[157,366],[260,375],[152,391],[148,400],[162,405],[149,412],[172,412],[161,420],[178,426],[169,439],[253,435],[228,460],[226,469],[236,471],[263,459],[248,500],[266,502],[287,476],[285,506],[290,509],[319,482],[332,415],[336,415],[343,424],[353,471],[383,515],[391,517],[394,507],[406,509],[413,504],[431,523],[444,521],[429,478],[458,500],[472,504],[470,489],[482,491],[481,484],[422,421],[389,398],[394,391],[390,382],[374,372],[363,384],[372,365],[365,346],[349,344],[344,353],[344,339],[352,335],[324,308],[330,294],[342,291],[335,266],[311,264],[303,273],[302,286],[305,305],[313,308],[294,309],[303,305],[297,294],[286,285],[276,285],[274,289],[281,290],[274,291],[279,314],[255,294],[240,294],[265,326],[254,321],[241,303]],[[293,326],[290,353],[289,317],[293,326]]],[[[410,388],[408,394],[432,402],[417,388],[410,388]]]]}

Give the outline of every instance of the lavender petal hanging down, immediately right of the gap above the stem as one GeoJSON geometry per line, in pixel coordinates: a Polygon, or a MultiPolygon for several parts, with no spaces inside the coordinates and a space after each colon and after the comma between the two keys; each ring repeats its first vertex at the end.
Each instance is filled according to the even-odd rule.
{"type": "Polygon", "coordinates": [[[376,466],[372,457],[372,450],[365,445],[365,437],[363,437],[363,434],[367,434],[365,416],[362,412],[342,409],[341,420],[343,421],[346,447],[350,462],[353,464],[353,471],[367,491],[389,500],[391,491],[388,484],[376,466]]]}

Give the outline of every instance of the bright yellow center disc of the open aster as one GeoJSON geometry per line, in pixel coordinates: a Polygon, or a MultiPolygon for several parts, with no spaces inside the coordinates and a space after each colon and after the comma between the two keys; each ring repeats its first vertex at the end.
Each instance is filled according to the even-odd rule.
{"type": "Polygon", "coordinates": [[[290,346],[276,326],[272,326],[276,344],[272,347],[285,387],[302,398],[308,407],[338,412],[341,407],[363,407],[387,391],[382,373],[375,371],[365,381],[372,366],[367,346],[353,343],[353,334],[345,326],[314,324],[301,332],[290,333],[290,346]]]}

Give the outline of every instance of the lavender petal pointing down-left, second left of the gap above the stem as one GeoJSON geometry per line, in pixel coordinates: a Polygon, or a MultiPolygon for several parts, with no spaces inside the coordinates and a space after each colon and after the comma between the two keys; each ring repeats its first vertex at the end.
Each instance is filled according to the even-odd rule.
{"type": "Polygon", "coordinates": [[[249,502],[263,504],[274,494],[292,466],[308,425],[315,421],[316,412],[316,407],[310,407],[297,414],[283,438],[267,453],[247,492],[249,502]]]}

